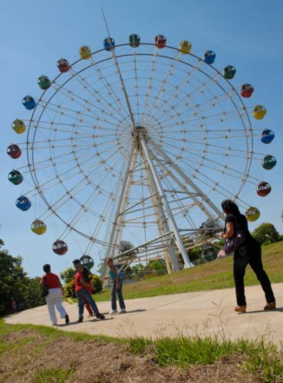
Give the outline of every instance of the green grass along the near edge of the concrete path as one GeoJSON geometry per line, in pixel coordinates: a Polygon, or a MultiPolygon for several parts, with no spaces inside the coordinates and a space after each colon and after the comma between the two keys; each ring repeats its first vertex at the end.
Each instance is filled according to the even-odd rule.
{"type": "MultiPolygon", "coordinates": [[[[7,358],[16,358],[17,355],[32,353],[33,350],[27,351],[25,348],[28,343],[33,342],[37,338],[37,346],[42,343],[50,343],[58,338],[71,338],[75,342],[86,343],[90,341],[97,342],[96,347],[103,343],[122,344],[127,347],[133,355],[151,358],[156,365],[161,368],[168,366],[177,366],[180,369],[186,369],[191,365],[212,365],[221,358],[231,358],[232,362],[240,369],[240,372],[246,372],[253,375],[258,382],[283,382],[283,344],[275,346],[275,344],[267,342],[262,338],[255,341],[239,339],[231,341],[223,336],[206,336],[201,337],[197,334],[191,338],[187,336],[164,337],[156,340],[144,338],[142,336],[129,339],[117,339],[105,336],[91,336],[88,334],[65,332],[52,329],[46,326],[34,326],[29,324],[5,324],[3,320],[0,322],[0,344],[5,345],[1,348],[0,362],[3,367],[7,358]],[[30,331],[33,336],[27,336],[30,331]],[[7,340],[7,336],[12,334],[13,337],[18,334],[18,341],[7,340]],[[37,335],[41,335],[40,339],[37,335]],[[26,336],[26,337],[24,337],[26,336]],[[6,337],[4,341],[4,337],[6,337]],[[11,350],[13,352],[11,353],[11,350]],[[234,358],[234,359],[233,359],[234,358]]],[[[40,353],[45,353],[44,348],[39,348],[40,353]]],[[[76,353],[76,346],[72,348],[76,353]]],[[[105,351],[104,351],[105,352],[105,351]]],[[[108,353],[108,351],[106,350],[108,353]]],[[[40,358],[40,353],[36,355],[40,358]]],[[[109,355],[105,355],[108,358],[109,355]]],[[[115,361],[112,361],[115,364],[115,361]]],[[[113,368],[115,366],[113,365],[113,368]]],[[[56,367],[42,365],[37,368],[33,375],[35,383],[63,383],[75,372],[79,372],[80,365],[75,367],[56,367]]],[[[228,368],[228,367],[227,367],[228,368]]],[[[3,368],[2,368],[3,371],[3,368]]],[[[18,365],[18,374],[21,374],[21,365],[18,365]]],[[[95,377],[93,377],[94,379],[95,377]]],[[[72,378],[71,378],[72,379],[72,378]]],[[[96,381],[95,379],[93,381],[96,381]]]]}

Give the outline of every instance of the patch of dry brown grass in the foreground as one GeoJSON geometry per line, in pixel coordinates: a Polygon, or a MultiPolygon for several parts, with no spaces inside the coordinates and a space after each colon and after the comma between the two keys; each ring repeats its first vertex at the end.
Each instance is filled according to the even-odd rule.
{"type": "MultiPolygon", "coordinates": [[[[66,380],[69,383],[257,382],[254,377],[243,377],[238,356],[221,358],[213,365],[196,365],[180,370],[177,367],[159,367],[150,353],[133,355],[127,344],[73,341],[68,337],[52,339],[32,330],[7,334],[4,339],[15,343],[29,337],[34,337],[35,341],[1,355],[1,383],[35,382],[38,371],[56,369],[74,371],[66,380]]],[[[59,380],[55,378],[50,382],[59,380]]]]}

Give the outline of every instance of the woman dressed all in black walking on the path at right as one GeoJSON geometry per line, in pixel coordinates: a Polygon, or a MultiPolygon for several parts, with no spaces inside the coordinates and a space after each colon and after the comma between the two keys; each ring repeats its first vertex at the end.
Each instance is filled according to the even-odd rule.
{"type": "Polygon", "coordinates": [[[260,243],[250,235],[246,216],[243,216],[243,214],[240,213],[238,206],[229,199],[223,201],[221,203],[221,207],[226,215],[225,230],[224,235],[222,236],[224,240],[233,237],[236,232],[236,225],[238,225],[238,228],[243,230],[246,238],[246,240],[234,252],[233,276],[237,300],[237,306],[234,310],[236,312],[246,312],[247,303],[243,278],[248,264],[250,264],[250,267],[255,272],[258,281],[260,281],[262,290],[265,292],[267,304],[265,305],[264,310],[275,310],[275,296],[273,295],[267,273],[265,273],[262,267],[260,243]]]}

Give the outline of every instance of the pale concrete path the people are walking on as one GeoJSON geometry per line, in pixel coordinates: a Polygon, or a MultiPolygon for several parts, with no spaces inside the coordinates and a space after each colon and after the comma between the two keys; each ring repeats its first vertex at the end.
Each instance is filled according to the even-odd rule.
{"type": "MultiPolygon", "coordinates": [[[[127,300],[127,314],[106,315],[105,321],[88,318],[77,324],[78,307],[64,303],[70,324],[58,321],[58,329],[83,331],[88,334],[128,337],[143,335],[156,337],[183,334],[225,334],[229,338],[266,336],[275,343],[283,340],[283,283],[272,285],[277,298],[277,310],[263,311],[265,298],[260,286],[246,288],[248,312],[233,312],[233,289],[163,295],[160,297],[127,300]]],[[[110,310],[110,302],[99,302],[100,312],[110,310]]],[[[47,307],[25,310],[6,317],[6,323],[30,323],[50,326],[47,307]]]]}

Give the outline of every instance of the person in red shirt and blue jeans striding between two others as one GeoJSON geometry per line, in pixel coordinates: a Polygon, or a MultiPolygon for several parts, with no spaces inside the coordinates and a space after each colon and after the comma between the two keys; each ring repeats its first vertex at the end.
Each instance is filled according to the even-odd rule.
{"type": "Polygon", "coordinates": [[[88,293],[88,288],[91,288],[91,283],[86,282],[84,276],[83,276],[83,266],[81,264],[78,264],[76,266],[76,274],[75,274],[75,291],[76,291],[76,297],[78,298],[78,305],[79,305],[79,320],[78,322],[83,322],[83,298],[86,299],[88,304],[91,306],[94,314],[96,314],[96,318],[98,319],[105,319],[103,314],[100,314],[98,311],[98,307],[96,306],[96,302],[93,300],[93,297],[90,293],[88,293]]]}

